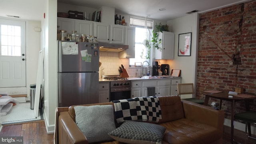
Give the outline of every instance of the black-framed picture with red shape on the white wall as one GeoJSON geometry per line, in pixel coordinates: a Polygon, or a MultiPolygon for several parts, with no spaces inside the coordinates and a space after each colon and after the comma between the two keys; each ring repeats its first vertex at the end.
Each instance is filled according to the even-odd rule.
{"type": "Polygon", "coordinates": [[[178,56],[191,56],[192,32],[179,34],[178,56]]]}

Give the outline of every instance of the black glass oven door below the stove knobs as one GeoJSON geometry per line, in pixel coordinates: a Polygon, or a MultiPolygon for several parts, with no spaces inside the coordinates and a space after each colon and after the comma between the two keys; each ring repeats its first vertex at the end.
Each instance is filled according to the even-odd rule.
{"type": "Polygon", "coordinates": [[[110,102],[112,100],[123,100],[131,98],[131,87],[120,87],[110,89],[110,102]]]}

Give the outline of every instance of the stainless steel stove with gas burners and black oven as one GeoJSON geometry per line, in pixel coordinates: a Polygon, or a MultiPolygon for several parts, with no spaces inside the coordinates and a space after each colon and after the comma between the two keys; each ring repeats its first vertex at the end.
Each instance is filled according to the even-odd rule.
{"type": "Polygon", "coordinates": [[[131,80],[120,75],[103,75],[102,79],[110,80],[110,101],[131,98],[131,80]]]}

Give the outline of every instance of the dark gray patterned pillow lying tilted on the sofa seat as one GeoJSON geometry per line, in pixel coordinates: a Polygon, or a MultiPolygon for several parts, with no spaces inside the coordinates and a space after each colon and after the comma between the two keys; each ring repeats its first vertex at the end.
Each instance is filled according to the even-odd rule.
{"type": "Polygon", "coordinates": [[[165,127],[157,124],[127,120],[108,134],[127,144],[160,144],[165,130],[165,127]]]}

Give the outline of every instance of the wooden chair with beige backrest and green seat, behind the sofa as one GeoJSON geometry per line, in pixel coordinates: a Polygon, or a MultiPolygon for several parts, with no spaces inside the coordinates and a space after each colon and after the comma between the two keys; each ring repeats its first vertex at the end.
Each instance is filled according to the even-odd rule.
{"type": "Polygon", "coordinates": [[[182,98],[182,100],[188,100],[190,102],[195,102],[197,104],[204,104],[204,100],[200,100],[198,98],[194,98],[194,84],[187,83],[187,84],[178,84],[178,95],[181,94],[192,94],[193,98],[182,98]]]}

